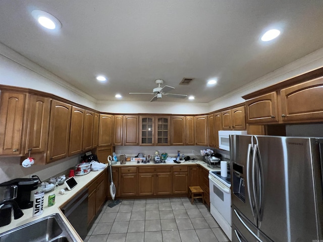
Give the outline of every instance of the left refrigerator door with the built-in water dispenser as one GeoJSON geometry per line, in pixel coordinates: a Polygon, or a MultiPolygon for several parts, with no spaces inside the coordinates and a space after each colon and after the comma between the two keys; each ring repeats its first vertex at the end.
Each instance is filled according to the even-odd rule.
{"type": "Polygon", "coordinates": [[[253,147],[251,142],[252,136],[230,136],[231,201],[256,226],[257,218],[250,184],[253,147]]]}

